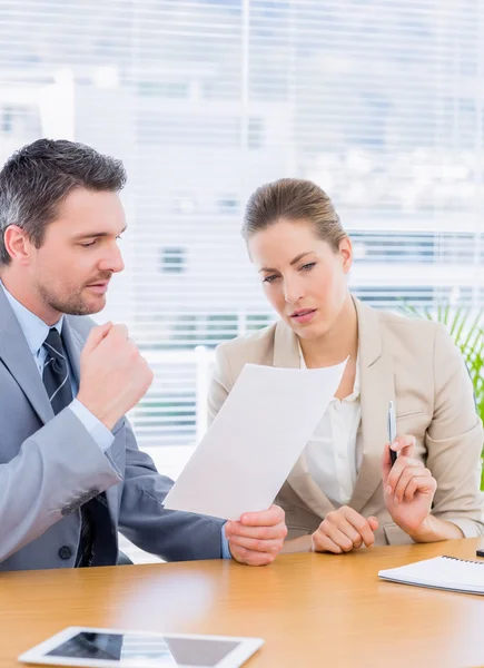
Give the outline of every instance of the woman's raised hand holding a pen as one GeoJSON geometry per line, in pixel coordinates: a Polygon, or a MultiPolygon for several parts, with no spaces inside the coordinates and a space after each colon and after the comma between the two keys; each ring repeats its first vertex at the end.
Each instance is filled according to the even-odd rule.
{"type": "Polygon", "coordinates": [[[411,537],[425,528],[431,514],[437,481],[424,464],[413,458],[415,438],[398,436],[383,453],[383,491],[392,519],[411,537]],[[392,466],[391,448],[398,452],[392,466]]]}

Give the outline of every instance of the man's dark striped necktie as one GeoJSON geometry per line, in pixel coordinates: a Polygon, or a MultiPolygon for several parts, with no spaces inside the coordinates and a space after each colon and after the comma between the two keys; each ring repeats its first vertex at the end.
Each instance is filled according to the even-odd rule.
{"type": "MultiPolygon", "coordinates": [[[[72,401],[69,379],[69,366],[62,338],[56,327],[49,330],[43,346],[47,351],[42,380],[49,396],[50,405],[57,415],[72,401]]],[[[89,566],[92,560],[93,532],[89,510],[81,508],[81,531],[76,566],[89,566]]]]}

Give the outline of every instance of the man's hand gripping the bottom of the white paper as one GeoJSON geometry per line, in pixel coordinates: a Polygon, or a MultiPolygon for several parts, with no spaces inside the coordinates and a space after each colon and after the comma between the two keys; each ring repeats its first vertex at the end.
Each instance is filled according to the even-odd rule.
{"type": "Polygon", "coordinates": [[[287,536],[284,510],[271,505],[261,512],[247,512],[238,522],[227,522],[225,534],[236,561],[249,566],[270,563],[287,536]]]}

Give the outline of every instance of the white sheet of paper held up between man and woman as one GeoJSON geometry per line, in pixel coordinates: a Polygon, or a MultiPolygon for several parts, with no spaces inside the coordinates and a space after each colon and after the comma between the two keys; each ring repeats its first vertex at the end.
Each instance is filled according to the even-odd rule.
{"type": "Polygon", "coordinates": [[[226,520],[269,508],[323,419],[345,365],[246,364],[165,508],[226,520]]]}

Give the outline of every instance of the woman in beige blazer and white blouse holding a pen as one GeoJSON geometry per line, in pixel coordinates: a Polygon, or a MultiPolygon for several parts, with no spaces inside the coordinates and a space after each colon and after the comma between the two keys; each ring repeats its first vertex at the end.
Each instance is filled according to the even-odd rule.
{"type": "MultiPolygon", "coordinates": [[[[258,188],[243,235],[280,321],[217,348],[209,420],[247,362],[315,369],[348,358],[275,501],[286,512],[288,541],[296,539],[296,548],[308,534],[313,549],[340,553],[363,544],[483,536],[483,429],[446,330],[376,311],[349,293],[352,242],[329,197],[310,181],[258,188]],[[391,400],[399,434],[393,466],[391,400]]],[[[241,549],[255,548],[256,541],[244,541],[241,549]]]]}

